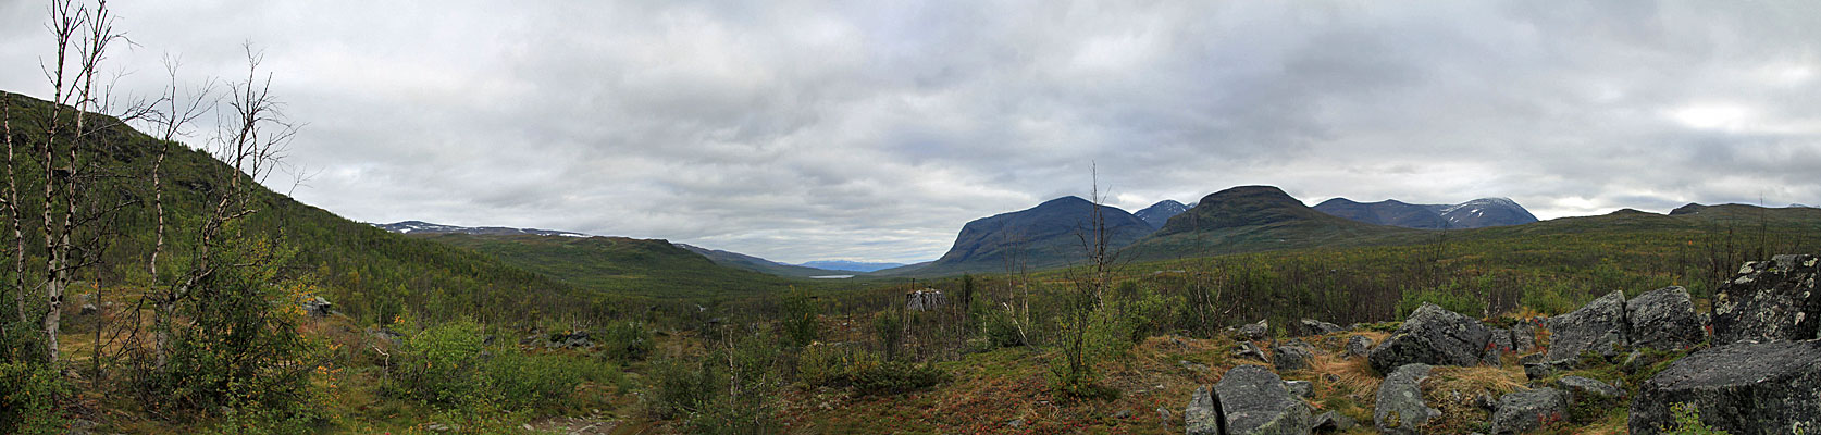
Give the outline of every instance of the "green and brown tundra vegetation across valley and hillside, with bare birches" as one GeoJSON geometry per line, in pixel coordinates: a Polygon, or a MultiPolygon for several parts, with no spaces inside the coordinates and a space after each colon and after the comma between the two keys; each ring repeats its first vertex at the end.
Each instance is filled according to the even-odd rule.
{"type": "MultiPolygon", "coordinates": [[[[1821,248],[1821,209],[1752,206],[1298,249],[1185,235],[1175,255],[1114,248],[1093,207],[1069,266],[1009,253],[916,280],[732,271],[630,238],[402,237],[266,187],[299,124],[257,49],[244,76],[180,84],[173,62],[168,89],[133,100],[100,73],[113,25],[106,2],[51,2],[51,100],[0,93],[0,433],[1173,433],[1235,366],[1306,380],[1293,402],[1317,420],[1371,422],[1388,373],[1344,342],[1386,342],[1424,304],[1504,331],[1612,291],[1683,286],[1708,311],[1741,264],[1821,248]],[[941,304],[905,304],[925,289],[941,304]],[[1260,337],[1229,333],[1258,320],[1260,337]]],[[[1710,346],[1530,379],[1517,353],[1550,337],[1530,339],[1429,371],[1424,431],[1488,431],[1473,400],[1526,380],[1635,397],[1710,346]]],[[[1617,402],[1533,431],[1626,431],[1617,402]]],[[[1677,404],[1664,433],[1714,433],[1701,411],[1677,404]]]]}

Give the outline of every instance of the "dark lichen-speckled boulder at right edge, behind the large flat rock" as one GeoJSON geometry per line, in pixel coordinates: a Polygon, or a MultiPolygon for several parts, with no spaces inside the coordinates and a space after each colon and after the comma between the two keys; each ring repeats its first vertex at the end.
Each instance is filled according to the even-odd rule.
{"type": "Polygon", "coordinates": [[[1812,340],[1821,324],[1821,258],[1777,255],[1748,262],[1714,295],[1714,342],[1812,340]]]}

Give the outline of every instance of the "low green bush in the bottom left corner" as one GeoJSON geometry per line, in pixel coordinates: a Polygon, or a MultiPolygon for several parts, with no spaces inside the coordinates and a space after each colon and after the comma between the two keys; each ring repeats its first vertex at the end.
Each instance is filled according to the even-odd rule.
{"type": "Polygon", "coordinates": [[[0,433],[64,433],[58,399],[69,384],[56,369],[33,362],[0,362],[0,433]]]}

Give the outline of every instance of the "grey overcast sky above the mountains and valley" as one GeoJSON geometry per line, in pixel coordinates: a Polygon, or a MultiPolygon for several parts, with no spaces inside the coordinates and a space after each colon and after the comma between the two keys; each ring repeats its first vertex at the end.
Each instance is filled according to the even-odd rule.
{"type": "MultiPolygon", "coordinates": [[[[0,0],[0,89],[49,95],[44,7],[0,0]]],[[[1541,218],[1821,202],[1821,2],[115,7],[124,89],[264,49],[308,124],[295,197],[362,222],[912,262],[1085,197],[1091,162],[1129,211],[1240,184],[1541,218]]]]}

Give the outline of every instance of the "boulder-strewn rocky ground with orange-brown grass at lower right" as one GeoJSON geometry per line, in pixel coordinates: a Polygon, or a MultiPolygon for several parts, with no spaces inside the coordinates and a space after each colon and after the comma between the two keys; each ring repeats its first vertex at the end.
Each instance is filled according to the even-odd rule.
{"type": "Polygon", "coordinates": [[[1264,322],[1235,328],[1231,351],[1244,362],[1196,388],[1182,424],[1220,435],[1814,433],[1817,262],[1750,262],[1710,313],[1686,289],[1663,288],[1501,324],[1424,304],[1395,328],[1302,320],[1286,340],[1264,322]],[[1311,369],[1317,360],[1364,362],[1377,379],[1344,380],[1311,369]]]}

